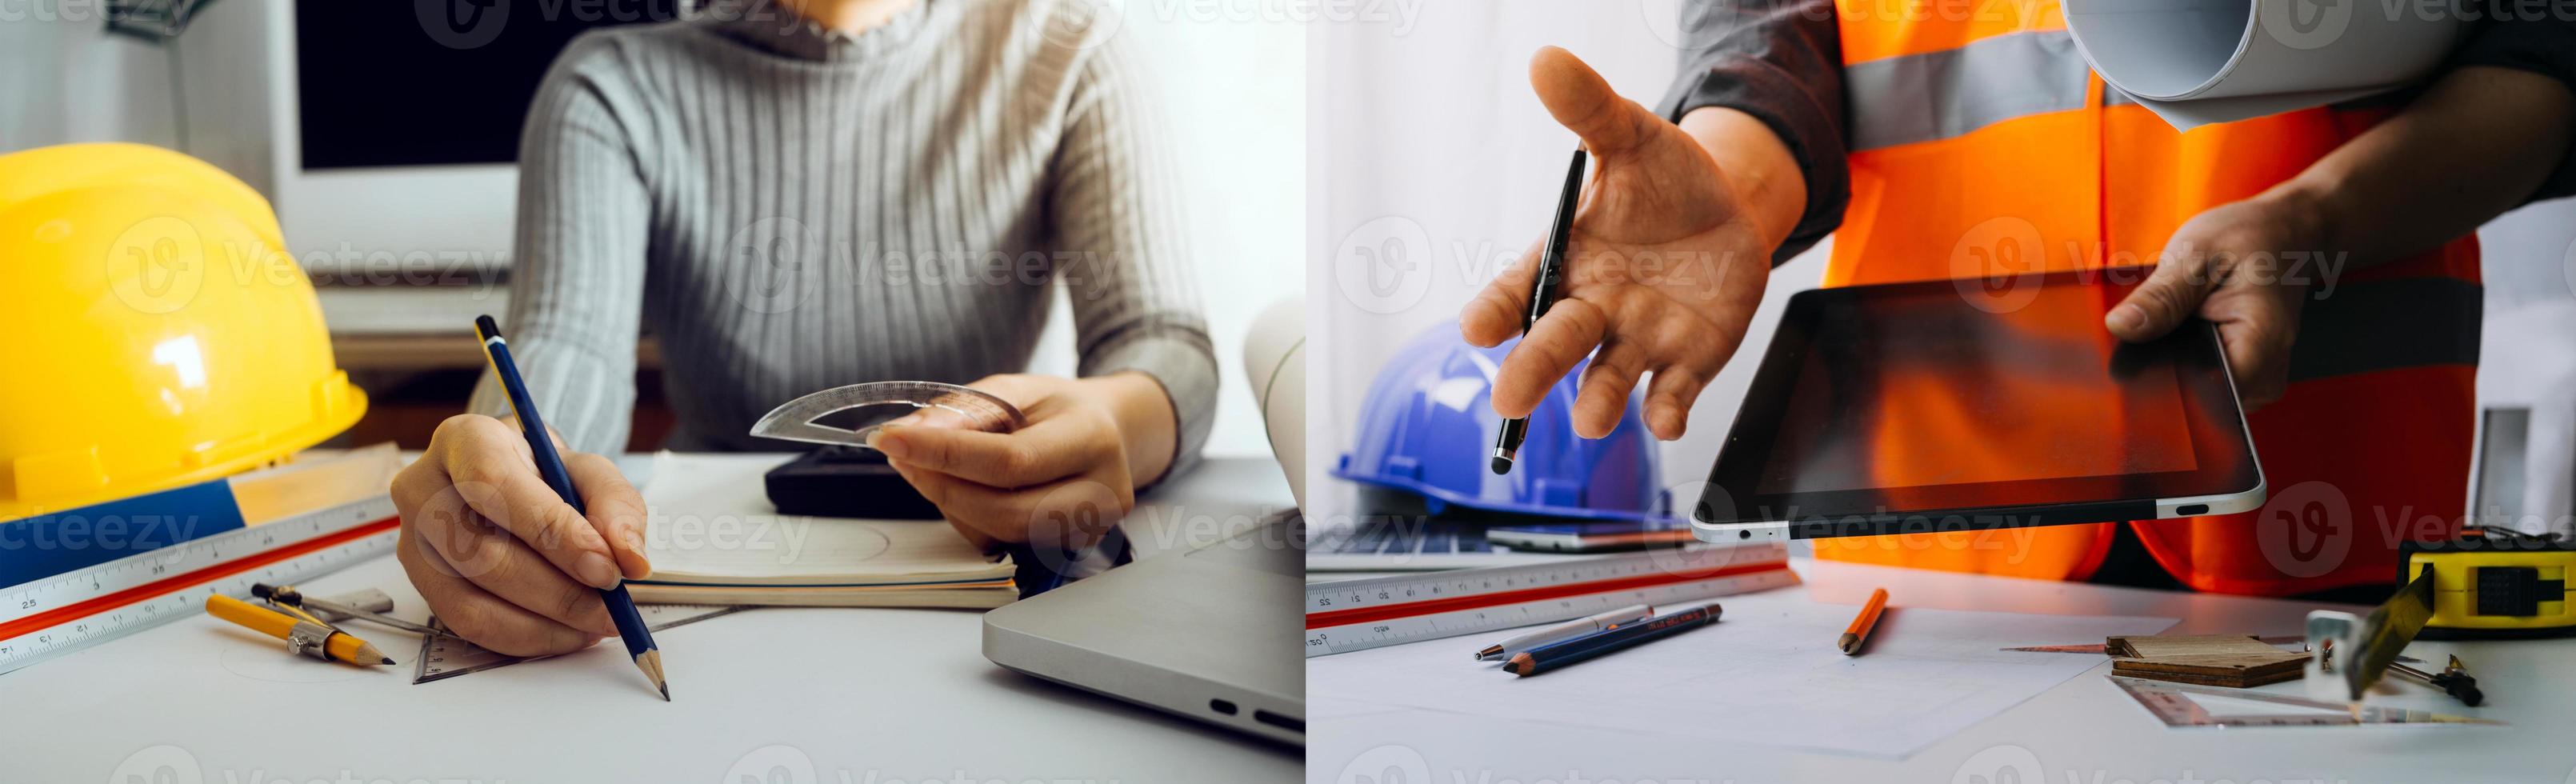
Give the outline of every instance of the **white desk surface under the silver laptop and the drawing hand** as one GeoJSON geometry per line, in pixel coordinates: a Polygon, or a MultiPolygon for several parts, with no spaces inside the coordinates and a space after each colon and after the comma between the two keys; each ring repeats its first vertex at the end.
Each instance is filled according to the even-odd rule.
{"type": "MultiPolygon", "coordinates": [[[[1288,503],[1267,459],[1211,459],[1128,518],[1157,557],[1239,508],[1288,503]],[[1182,511],[1182,513],[1175,513],[1182,511]],[[1141,531],[1154,526],[1157,531],[1141,531]],[[1177,534],[1175,534],[1177,531],[1177,534]]],[[[309,580],[381,588],[422,619],[392,557],[309,580]]],[[[193,616],[0,676],[0,781],[1293,781],[1301,750],[1002,671],[981,616],[752,609],[654,634],[675,704],[621,650],[412,686],[193,616]],[[533,696],[541,694],[541,696],[533,696]],[[170,745],[170,748],[157,748],[170,745]],[[170,763],[178,776],[149,776],[170,763]],[[783,769],[783,776],[775,771],[783,769]]],[[[1296,609],[1280,609],[1293,624],[1296,609]]]]}

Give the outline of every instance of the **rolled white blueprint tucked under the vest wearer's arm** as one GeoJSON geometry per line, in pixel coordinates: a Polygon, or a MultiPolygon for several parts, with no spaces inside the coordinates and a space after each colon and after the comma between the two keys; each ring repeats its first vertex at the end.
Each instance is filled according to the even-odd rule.
{"type": "Polygon", "coordinates": [[[2105,83],[2174,129],[2419,83],[2468,31],[2458,0],[2063,0],[2105,83]]]}

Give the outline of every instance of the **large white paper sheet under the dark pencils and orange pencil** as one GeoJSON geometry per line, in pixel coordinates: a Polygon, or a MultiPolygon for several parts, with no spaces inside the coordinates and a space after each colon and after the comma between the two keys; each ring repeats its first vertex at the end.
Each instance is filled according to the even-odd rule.
{"type": "MultiPolygon", "coordinates": [[[[1306,660],[1314,701],[1401,704],[1680,738],[1901,758],[2105,663],[2017,645],[2156,634],[2174,619],[1891,606],[1862,655],[1834,637],[1857,606],[1806,591],[1723,601],[1716,627],[1517,678],[1432,640],[1306,660]]],[[[1497,634],[1502,637],[1502,634],[1497,634]]]]}

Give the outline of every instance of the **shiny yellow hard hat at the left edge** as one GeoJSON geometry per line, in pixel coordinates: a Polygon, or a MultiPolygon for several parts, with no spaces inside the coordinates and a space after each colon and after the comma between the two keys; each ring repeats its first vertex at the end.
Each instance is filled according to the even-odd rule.
{"type": "Polygon", "coordinates": [[[268,201],[144,144],[0,155],[0,521],[204,482],[366,413],[268,201]]]}

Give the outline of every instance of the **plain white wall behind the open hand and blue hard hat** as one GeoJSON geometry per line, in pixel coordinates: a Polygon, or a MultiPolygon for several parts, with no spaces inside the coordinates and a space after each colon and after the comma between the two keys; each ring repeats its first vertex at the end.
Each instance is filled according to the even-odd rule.
{"type": "MultiPolygon", "coordinates": [[[[1425,5],[1409,21],[1319,26],[1309,44],[1316,64],[1309,245],[1316,263],[1306,307],[1316,366],[1306,441],[1314,454],[1309,518],[1316,521],[1350,511],[1347,482],[1327,472],[1352,444],[1378,366],[1414,333],[1453,320],[1548,230],[1574,134],[1530,93],[1530,54],[1564,46],[1649,106],[1677,70],[1677,0],[1425,5]],[[1370,284],[1370,258],[1394,260],[1388,250],[1401,258],[1381,263],[1370,284]]],[[[2483,395],[2506,402],[2576,395],[2568,392],[2576,387],[2576,201],[2522,209],[2483,235],[2483,395]]],[[[1674,508],[1698,498],[1744,400],[1752,358],[1770,343],[1783,302],[1821,279],[1826,248],[1772,273],[1744,353],[1703,392],[1690,433],[1664,444],[1674,508]]],[[[2576,428],[2568,420],[2561,428],[2576,428]]],[[[2568,433],[2555,441],[2566,451],[2568,433]]],[[[2568,485],[2566,462],[2555,477],[2568,485]]]]}

